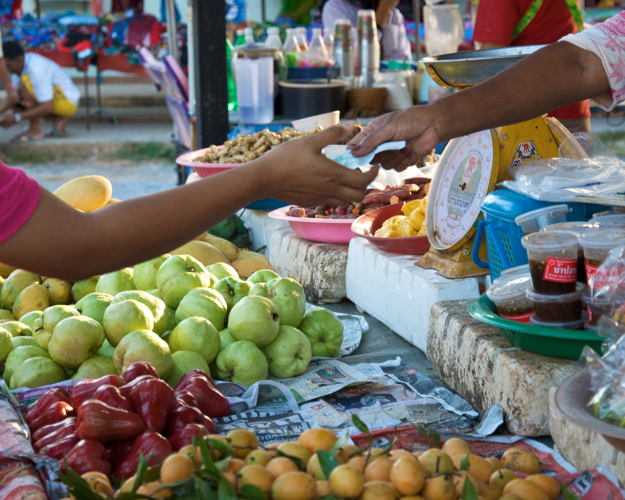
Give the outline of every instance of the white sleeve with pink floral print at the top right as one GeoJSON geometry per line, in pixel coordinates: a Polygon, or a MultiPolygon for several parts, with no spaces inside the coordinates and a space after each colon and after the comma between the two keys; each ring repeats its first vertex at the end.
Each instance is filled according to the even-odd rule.
{"type": "Polygon", "coordinates": [[[591,51],[601,59],[611,94],[592,99],[600,108],[611,111],[625,101],[625,12],[619,12],[581,33],[562,37],[560,41],[591,51]]]}

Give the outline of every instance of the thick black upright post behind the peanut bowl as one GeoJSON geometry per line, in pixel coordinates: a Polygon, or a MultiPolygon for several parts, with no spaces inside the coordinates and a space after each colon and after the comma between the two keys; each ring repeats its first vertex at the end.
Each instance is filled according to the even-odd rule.
{"type": "Polygon", "coordinates": [[[207,148],[228,133],[226,16],[223,0],[192,1],[197,148],[207,148]]]}

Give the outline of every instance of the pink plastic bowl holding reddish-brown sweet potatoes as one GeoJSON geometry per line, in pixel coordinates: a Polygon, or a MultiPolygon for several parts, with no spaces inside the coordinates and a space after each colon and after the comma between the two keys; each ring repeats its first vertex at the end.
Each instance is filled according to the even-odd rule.
{"type": "Polygon", "coordinates": [[[282,207],[269,212],[272,219],[289,221],[297,236],[321,243],[349,244],[356,235],[351,231],[354,219],[309,219],[308,217],[291,217],[291,206],[282,207]]]}

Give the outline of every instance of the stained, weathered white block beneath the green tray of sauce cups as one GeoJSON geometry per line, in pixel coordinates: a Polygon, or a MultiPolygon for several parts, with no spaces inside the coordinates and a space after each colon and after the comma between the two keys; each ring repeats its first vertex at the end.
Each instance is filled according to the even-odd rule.
{"type": "Polygon", "coordinates": [[[478,411],[501,406],[510,432],[549,434],[549,389],[576,372],[576,362],[512,346],[497,327],[469,315],[469,302],[432,307],[427,357],[434,372],[478,411]]]}

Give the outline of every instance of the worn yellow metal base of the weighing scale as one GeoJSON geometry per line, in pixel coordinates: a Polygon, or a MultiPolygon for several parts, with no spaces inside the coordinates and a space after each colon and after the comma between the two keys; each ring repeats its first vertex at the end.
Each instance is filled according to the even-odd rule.
{"type": "MultiPolygon", "coordinates": [[[[442,252],[431,246],[429,252],[415,262],[414,265],[423,269],[436,269],[436,274],[449,279],[489,274],[489,269],[476,266],[471,259],[471,249],[474,243],[475,236],[471,236],[469,241],[451,252],[442,252]]],[[[486,238],[482,238],[479,256],[482,261],[488,260],[486,238]]]]}

